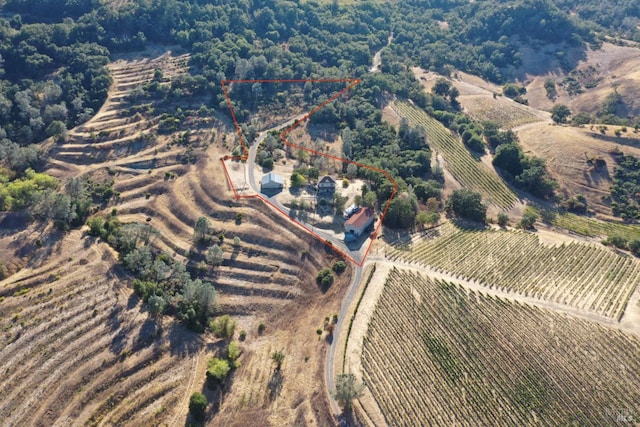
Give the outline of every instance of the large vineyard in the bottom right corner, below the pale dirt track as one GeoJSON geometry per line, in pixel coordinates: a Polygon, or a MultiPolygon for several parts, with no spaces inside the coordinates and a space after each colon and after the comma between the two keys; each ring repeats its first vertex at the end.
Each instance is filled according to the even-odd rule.
{"type": "Polygon", "coordinates": [[[618,330],[394,268],[363,379],[393,426],[613,425],[637,410],[639,352],[618,330]]]}

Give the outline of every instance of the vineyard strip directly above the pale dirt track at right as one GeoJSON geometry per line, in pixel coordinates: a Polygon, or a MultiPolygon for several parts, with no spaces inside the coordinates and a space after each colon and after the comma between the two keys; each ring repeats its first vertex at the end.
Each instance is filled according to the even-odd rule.
{"type": "Polygon", "coordinates": [[[620,319],[640,280],[640,264],[599,245],[541,244],[534,234],[463,231],[451,224],[441,237],[391,249],[404,258],[516,292],[620,319]]]}

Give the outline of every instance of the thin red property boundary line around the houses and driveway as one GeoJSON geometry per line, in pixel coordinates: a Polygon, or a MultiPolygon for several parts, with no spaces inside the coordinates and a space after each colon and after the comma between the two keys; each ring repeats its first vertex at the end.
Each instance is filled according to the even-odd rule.
{"type": "Polygon", "coordinates": [[[240,155],[240,156],[224,156],[224,157],[222,157],[220,159],[220,161],[222,162],[222,167],[224,168],[224,173],[225,173],[225,175],[227,177],[227,181],[229,181],[229,186],[231,187],[231,190],[233,191],[233,194],[234,194],[236,200],[238,200],[238,199],[253,199],[253,198],[258,198],[258,199],[262,200],[264,203],[266,203],[267,205],[271,206],[273,209],[275,209],[276,211],[278,211],[279,213],[284,215],[285,218],[289,219],[289,221],[291,221],[292,223],[297,225],[299,228],[303,229],[307,233],[309,233],[312,236],[314,236],[315,238],[319,239],[322,243],[324,243],[325,245],[327,245],[328,247],[330,247],[334,251],[338,252],[340,255],[342,255],[343,257],[345,257],[349,261],[353,262],[357,266],[362,267],[362,265],[364,264],[364,261],[367,259],[367,256],[369,255],[369,251],[371,250],[371,246],[373,245],[375,237],[378,235],[378,232],[380,231],[380,227],[382,226],[382,220],[384,219],[384,216],[387,214],[387,210],[389,209],[389,205],[391,204],[391,200],[393,199],[393,197],[395,196],[396,192],[398,191],[398,184],[393,180],[393,178],[391,178],[391,175],[389,175],[389,173],[387,173],[387,171],[385,171],[385,170],[378,169],[378,168],[375,168],[373,166],[364,165],[362,163],[354,162],[354,161],[349,160],[349,159],[344,159],[342,157],[333,156],[331,154],[321,153],[321,152],[319,152],[317,150],[312,150],[310,148],[301,147],[299,145],[292,144],[287,140],[287,135],[289,133],[291,133],[295,128],[300,126],[301,123],[303,123],[306,120],[308,120],[309,117],[311,117],[311,115],[317,113],[318,110],[320,110],[321,108],[325,107],[330,102],[335,101],[338,97],[340,97],[342,94],[347,92],[349,89],[351,89],[354,86],[356,86],[357,84],[359,84],[360,83],[360,79],[223,80],[221,83],[222,83],[222,90],[224,92],[224,96],[225,96],[225,98],[227,100],[227,105],[229,106],[229,111],[231,112],[231,118],[233,119],[233,124],[236,127],[236,133],[238,134],[238,138],[240,139],[240,144],[242,145],[242,152],[243,152],[243,154],[240,155]],[[306,152],[314,154],[314,155],[324,156],[324,157],[327,157],[327,158],[330,158],[330,159],[333,159],[333,160],[338,160],[338,161],[345,162],[345,163],[351,163],[351,164],[354,164],[354,165],[358,166],[359,168],[371,169],[371,170],[373,170],[375,172],[382,173],[389,180],[389,182],[391,182],[391,184],[393,184],[393,191],[391,192],[391,196],[389,197],[389,200],[387,200],[387,203],[385,204],[385,207],[384,207],[384,209],[382,211],[382,215],[380,216],[380,221],[378,221],[378,226],[373,231],[372,236],[370,238],[369,245],[367,246],[365,254],[362,257],[362,260],[360,260],[360,261],[354,259],[348,253],[345,253],[340,248],[338,248],[335,245],[333,245],[326,238],[324,238],[324,237],[318,235],[317,233],[315,233],[312,229],[308,228],[305,224],[296,221],[294,218],[291,218],[287,212],[285,212],[284,210],[280,209],[280,207],[278,207],[275,204],[273,204],[268,198],[264,197],[262,194],[260,194],[260,193],[251,194],[251,195],[238,194],[238,192],[236,191],[236,189],[235,189],[235,187],[233,185],[233,181],[231,180],[231,176],[229,175],[229,171],[227,170],[227,166],[224,163],[225,160],[229,160],[229,159],[231,159],[231,160],[247,160],[249,158],[249,150],[248,150],[248,148],[247,148],[247,146],[245,144],[244,137],[242,136],[242,131],[240,129],[240,125],[238,123],[238,120],[236,120],[236,115],[235,115],[235,113],[233,111],[233,105],[231,103],[231,99],[229,98],[229,92],[227,90],[227,85],[234,84],[234,83],[241,83],[242,84],[242,83],[307,83],[307,82],[309,82],[309,83],[349,83],[349,84],[344,89],[342,89],[341,91],[339,91],[338,93],[333,95],[331,98],[329,98],[326,101],[324,101],[322,104],[314,107],[309,113],[304,115],[302,117],[302,119],[295,120],[291,126],[285,128],[280,133],[280,139],[282,139],[282,142],[284,142],[285,146],[289,146],[289,147],[293,147],[293,148],[296,148],[296,149],[299,149],[299,150],[303,150],[303,151],[306,151],[306,152]]]}

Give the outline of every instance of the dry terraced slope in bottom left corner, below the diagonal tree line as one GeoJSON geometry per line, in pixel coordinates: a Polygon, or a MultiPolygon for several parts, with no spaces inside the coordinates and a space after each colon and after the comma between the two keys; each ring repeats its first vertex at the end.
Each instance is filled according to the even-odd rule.
{"type": "Polygon", "coordinates": [[[74,231],[0,282],[5,425],[154,424],[187,392],[197,339],[148,319],[111,249],[74,231]]]}

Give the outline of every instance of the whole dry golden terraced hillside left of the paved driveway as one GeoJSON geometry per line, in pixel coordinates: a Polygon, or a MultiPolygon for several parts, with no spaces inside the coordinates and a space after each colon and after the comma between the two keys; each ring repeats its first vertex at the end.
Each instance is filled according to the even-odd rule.
{"type": "MultiPolygon", "coordinates": [[[[18,248],[12,235],[0,236],[0,247],[28,255],[16,252],[24,268],[0,281],[1,381],[8,396],[0,419],[10,425],[180,425],[194,391],[218,399],[207,415],[213,425],[333,424],[322,387],[327,344],[316,329],[338,312],[350,270],[322,291],[315,274],[335,255],[260,201],[232,200],[219,161],[232,132],[223,117],[189,116],[163,135],[152,114],[124,114],[131,91],[155,69],[166,82],[187,72],[187,62],[156,51],[112,63],[107,102],[66,141],[51,143],[48,172],[63,181],[113,180],[118,196],[105,212],[116,208],[122,222],[153,226],[154,246],[176,260],[202,259],[205,248],[192,240],[200,216],[215,236],[226,237],[223,265],[197,274],[214,283],[220,312],[237,322],[236,336],[246,331],[232,385],[221,395],[206,388],[206,362],[220,340],[193,334],[169,316],[153,321],[109,246],[80,230],[28,230],[25,237],[37,236],[42,248],[18,248]],[[236,236],[239,245],[232,243],[236,236]],[[266,326],[261,334],[259,324],[266,326]],[[285,354],[277,387],[275,350],[285,354]]],[[[204,101],[191,102],[197,108],[204,101]]]]}

